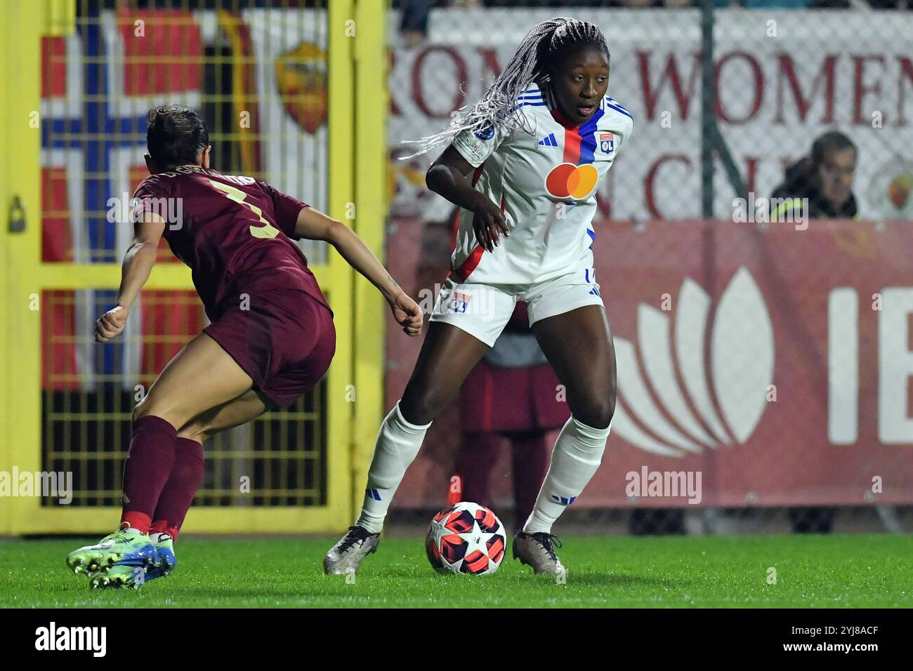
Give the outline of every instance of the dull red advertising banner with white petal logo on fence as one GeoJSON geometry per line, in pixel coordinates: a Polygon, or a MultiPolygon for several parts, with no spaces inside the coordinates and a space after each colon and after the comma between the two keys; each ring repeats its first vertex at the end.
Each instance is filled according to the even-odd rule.
{"type": "MultiPolygon", "coordinates": [[[[618,405],[575,507],[913,503],[913,222],[596,230],[618,405]],[[660,478],[666,488],[651,489],[660,478]],[[686,478],[698,496],[684,485],[662,496],[686,478]]],[[[387,242],[394,278],[430,309],[446,225],[397,219],[387,242]]],[[[387,408],[421,341],[391,320],[387,408]]],[[[459,436],[455,406],[429,430],[395,506],[446,500],[459,436]]],[[[509,479],[504,454],[492,464],[496,505],[509,505],[509,486],[497,486],[509,479]]]]}

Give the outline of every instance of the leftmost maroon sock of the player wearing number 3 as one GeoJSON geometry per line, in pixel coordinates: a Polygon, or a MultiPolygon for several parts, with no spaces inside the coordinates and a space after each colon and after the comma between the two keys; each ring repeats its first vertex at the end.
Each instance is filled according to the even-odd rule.
{"type": "Polygon", "coordinates": [[[130,451],[123,465],[121,522],[143,533],[152,526],[152,512],[174,464],[177,429],[153,414],[133,423],[130,451]]]}

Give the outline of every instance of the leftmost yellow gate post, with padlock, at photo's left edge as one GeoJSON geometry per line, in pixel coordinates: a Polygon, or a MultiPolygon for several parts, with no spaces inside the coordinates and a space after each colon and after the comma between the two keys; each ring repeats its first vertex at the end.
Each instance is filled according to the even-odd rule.
{"type": "MultiPolygon", "coordinates": [[[[67,34],[73,28],[72,2],[16,2],[5,7],[0,38],[0,207],[3,227],[3,446],[2,469],[40,470],[40,312],[29,309],[31,294],[41,293],[39,156],[41,131],[30,124],[41,109],[40,45],[43,35],[67,34]],[[15,161],[14,161],[15,158],[15,161]],[[9,208],[18,197],[26,213],[26,230],[9,232],[9,208]]],[[[37,498],[0,498],[0,524],[6,533],[30,526],[37,498]]]]}

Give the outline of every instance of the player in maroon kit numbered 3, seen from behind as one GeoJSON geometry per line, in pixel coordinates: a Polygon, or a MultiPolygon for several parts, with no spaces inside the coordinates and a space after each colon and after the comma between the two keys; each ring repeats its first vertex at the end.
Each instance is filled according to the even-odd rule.
{"type": "Polygon", "coordinates": [[[173,539],[203,477],[206,437],[273,407],[288,407],[327,372],[336,348],[332,311],[291,238],[325,240],[382,293],[409,335],[422,312],[352,229],[251,177],[209,168],[200,115],[164,105],[148,115],[151,176],[134,194],[135,237],[117,304],[96,341],[123,330],[161,238],[193,270],[211,321],[169,362],[133,411],[121,529],[68,555],[93,587],[166,575],[173,539]],[[180,212],[168,221],[169,213],[180,212]]]}

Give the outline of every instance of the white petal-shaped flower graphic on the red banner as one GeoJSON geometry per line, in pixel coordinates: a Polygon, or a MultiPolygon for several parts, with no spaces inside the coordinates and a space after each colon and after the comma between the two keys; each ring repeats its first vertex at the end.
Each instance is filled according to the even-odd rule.
{"type": "Polygon", "coordinates": [[[615,339],[618,404],[612,426],[624,440],[657,455],[684,456],[750,438],[768,403],[774,344],[771,317],[746,267],[736,271],[719,299],[708,366],[709,313],[707,292],[685,278],[674,333],[665,312],[644,303],[637,311],[643,371],[634,343],[615,339]]]}

